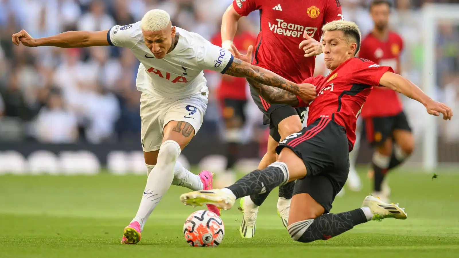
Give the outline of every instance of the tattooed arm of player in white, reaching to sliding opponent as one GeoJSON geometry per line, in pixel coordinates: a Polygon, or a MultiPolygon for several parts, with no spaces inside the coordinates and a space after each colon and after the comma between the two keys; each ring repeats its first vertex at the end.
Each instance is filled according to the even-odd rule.
{"type": "MultiPolygon", "coordinates": [[[[316,96],[315,88],[313,90],[310,88],[300,88],[298,84],[293,83],[287,79],[284,79],[280,77],[279,75],[267,69],[253,66],[250,63],[244,62],[237,58],[234,58],[231,65],[225,71],[225,74],[235,76],[235,77],[245,77],[254,82],[257,82],[258,84],[264,84],[263,86],[265,85],[272,86],[272,87],[276,87],[282,90],[286,90],[292,93],[293,95],[300,96],[303,100],[306,100],[306,101],[312,101],[316,96]]],[[[263,86],[260,86],[258,89],[261,89],[263,86]]],[[[263,91],[264,90],[268,90],[269,92],[270,90],[273,90],[273,89],[263,88],[263,91]]],[[[267,94],[267,93],[264,93],[264,94],[267,94]]],[[[276,94],[282,94],[282,93],[276,93],[276,94]]],[[[282,95],[285,95],[285,93],[282,95]]],[[[291,100],[292,99],[293,98],[291,98],[291,100]]],[[[282,103],[285,103],[285,102],[282,102],[282,103]]]]}

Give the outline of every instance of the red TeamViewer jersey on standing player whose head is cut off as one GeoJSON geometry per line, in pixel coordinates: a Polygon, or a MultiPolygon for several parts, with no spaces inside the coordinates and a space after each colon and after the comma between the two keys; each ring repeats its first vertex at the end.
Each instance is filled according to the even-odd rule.
{"type": "Polygon", "coordinates": [[[339,0],[234,0],[233,6],[241,16],[260,10],[252,64],[297,83],[311,77],[315,66],[315,57],[298,48],[303,33],[320,41],[322,26],[342,18],[339,0]]]}

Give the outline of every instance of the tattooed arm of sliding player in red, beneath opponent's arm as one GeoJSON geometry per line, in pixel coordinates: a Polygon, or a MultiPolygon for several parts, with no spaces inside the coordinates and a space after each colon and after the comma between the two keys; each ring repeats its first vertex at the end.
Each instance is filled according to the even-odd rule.
{"type": "Polygon", "coordinates": [[[260,84],[252,79],[247,80],[253,88],[257,90],[258,94],[261,95],[265,101],[268,101],[269,104],[286,104],[293,107],[297,107],[299,104],[297,95],[291,92],[260,84]]]}

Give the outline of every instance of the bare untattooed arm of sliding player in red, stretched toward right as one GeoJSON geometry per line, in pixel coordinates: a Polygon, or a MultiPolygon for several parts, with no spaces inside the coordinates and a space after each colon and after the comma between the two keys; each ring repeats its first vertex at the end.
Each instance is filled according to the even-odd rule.
{"type": "Polygon", "coordinates": [[[425,95],[418,86],[396,73],[384,73],[379,84],[422,103],[427,109],[427,112],[431,115],[439,116],[440,113],[442,113],[444,120],[451,120],[453,116],[453,111],[450,107],[441,102],[432,100],[428,95],[425,95]]]}

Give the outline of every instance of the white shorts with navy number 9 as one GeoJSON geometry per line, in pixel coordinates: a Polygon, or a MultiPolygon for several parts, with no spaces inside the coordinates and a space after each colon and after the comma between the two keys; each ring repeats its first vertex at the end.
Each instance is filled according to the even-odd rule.
{"type": "Polygon", "coordinates": [[[140,118],[142,119],[143,151],[157,151],[162,143],[162,130],[169,121],[190,123],[195,134],[202,125],[207,109],[207,96],[196,94],[186,99],[167,99],[142,92],[140,118]]]}

